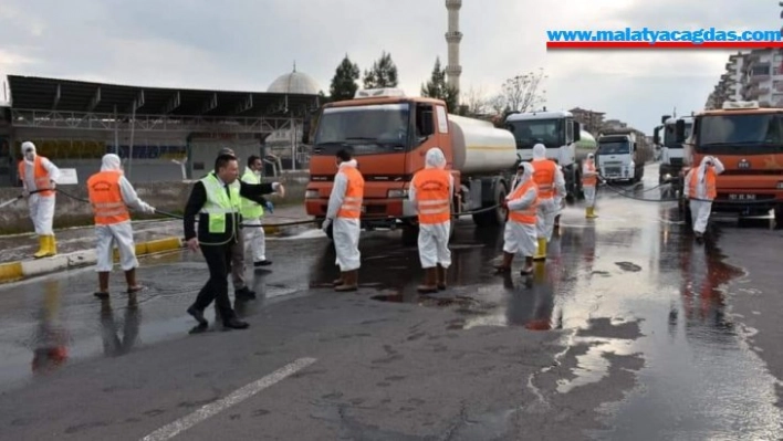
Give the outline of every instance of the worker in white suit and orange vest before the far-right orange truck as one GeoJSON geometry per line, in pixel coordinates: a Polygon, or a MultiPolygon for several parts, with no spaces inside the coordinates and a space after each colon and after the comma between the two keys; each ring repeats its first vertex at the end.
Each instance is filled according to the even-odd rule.
{"type": "Polygon", "coordinates": [[[704,156],[697,168],[691,168],[686,175],[682,192],[690,203],[690,216],[693,220],[693,233],[701,241],[710,220],[712,201],[718,196],[716,177],[724,170],[723,164],[714,156],[704,156]]]}

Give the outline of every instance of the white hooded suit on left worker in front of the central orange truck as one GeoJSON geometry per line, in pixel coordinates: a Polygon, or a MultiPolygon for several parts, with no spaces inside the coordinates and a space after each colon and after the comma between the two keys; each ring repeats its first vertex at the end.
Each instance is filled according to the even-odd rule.
{"type": "MultiPolygon", "coordinates": [[[[335,264],[340,266],[343,277],[334,282],[337,291],[352,291],[356,288],[354,274],[362,266],[362,253],[358,250],[359,234],[362,232],[361,219],[349,219],[338,217],[341,208],[344,203],[354,204],[356,201],[346,201],[346,191],[348,191],[348,177],[344,172],[347,168],[356,168],[356,159],[342,161],[338,166],[337,175],[334,177],[334,186],[328,198],[328,208],[326,209],[326,220],[323,223],[323,230],[326,231],[334,222],[332,238],[334,240],[334,249],[337,254],[335,264]],[[349,280],[345,280],[345,276],[349,280]]],[[[361,208],[362,201],[357,201],[361,208]]]]}

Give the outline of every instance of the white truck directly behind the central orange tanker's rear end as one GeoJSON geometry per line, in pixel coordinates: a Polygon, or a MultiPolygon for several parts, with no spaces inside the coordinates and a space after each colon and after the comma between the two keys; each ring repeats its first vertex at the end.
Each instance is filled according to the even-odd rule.
{"type": "Polygon", "coordinates": [[[586,149],[577,148],[582,127],[571,112],[512,113],[505,118],[505,128],[516,141],[520,161],[533,159],[533,146],[546,146],[546,157],[554,160],[565,177],[566,199],[573,201],[582,196],[582,161],[586,149]]]}

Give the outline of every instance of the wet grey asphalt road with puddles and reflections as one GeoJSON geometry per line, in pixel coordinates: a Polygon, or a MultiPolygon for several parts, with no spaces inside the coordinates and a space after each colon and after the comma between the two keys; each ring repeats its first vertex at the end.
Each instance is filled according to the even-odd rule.
{"type": "MultiPolygon", "coordinates": [[[[628,192],[658,198],[647,174],[628,192]]],[[[607,189],[597,212],[567,208],[531,277],[493,275],[502,231],[460,222],[429,297],[398,232],[363,235],[361,291],[335,294],[324,235],[294,231],[249,272],[241,332],[187,335],[206,281],[189,252],[145,259],[136,302],[119,273],[95,300],[88,269],[0,286],[0,439],[142,439],[302,359],[179,437],[780,438],[783,234],[719,222],[697,244],[672,203],[607,189]]]]}

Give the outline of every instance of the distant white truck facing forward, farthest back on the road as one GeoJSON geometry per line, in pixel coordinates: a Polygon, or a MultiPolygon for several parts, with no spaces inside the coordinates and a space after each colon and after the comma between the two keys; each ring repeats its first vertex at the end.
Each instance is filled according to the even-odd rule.
{"type": "Polygon", "coordinates": [[[644,176],[645,161],[633,129],[620,128],[601,133],[595,156],[598,174],[608,182],[638,182],[644,176]]]}

